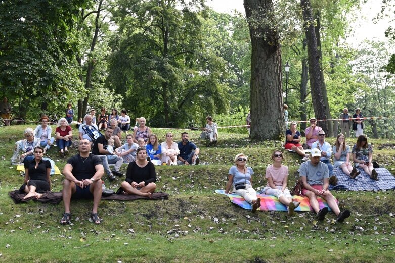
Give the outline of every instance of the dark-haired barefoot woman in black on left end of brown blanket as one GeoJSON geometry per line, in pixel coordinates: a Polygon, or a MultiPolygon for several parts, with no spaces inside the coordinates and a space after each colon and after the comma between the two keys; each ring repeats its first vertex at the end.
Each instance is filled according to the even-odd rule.
{"type": "Polygon", "coordinates": [[[34,148],[34,159],[24,160],[25,180],[20,193],[26,193],[23,199],[34,197],[39,199],[45,191],[51,191],[51,163],[48,160],[42,160],[44,148],[37,146],[34,148]]]}

